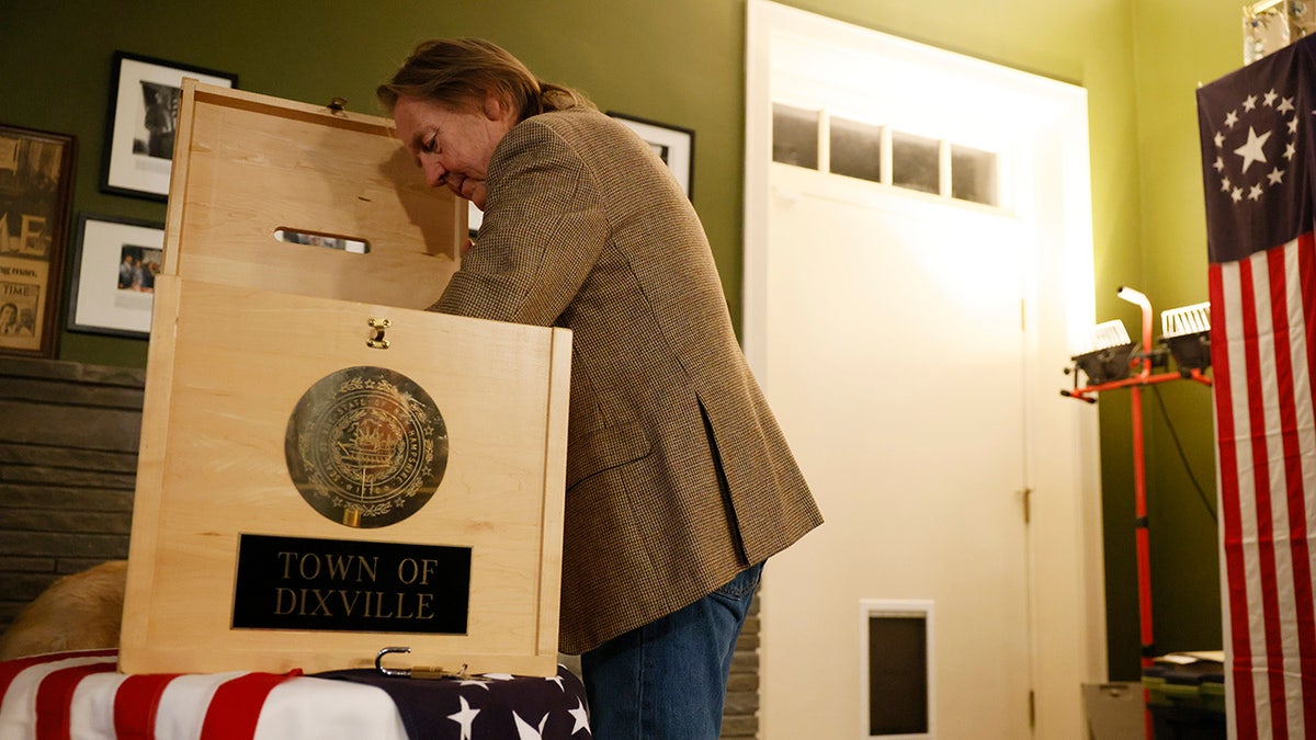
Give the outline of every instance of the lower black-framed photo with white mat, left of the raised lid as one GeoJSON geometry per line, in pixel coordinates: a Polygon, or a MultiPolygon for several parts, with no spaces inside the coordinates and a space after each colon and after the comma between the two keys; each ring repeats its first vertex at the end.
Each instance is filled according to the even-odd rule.
{"type": "Polygon", "coordinates": [[[78,215],[68,330],[147,338],[164,224],[78,215]]]}

